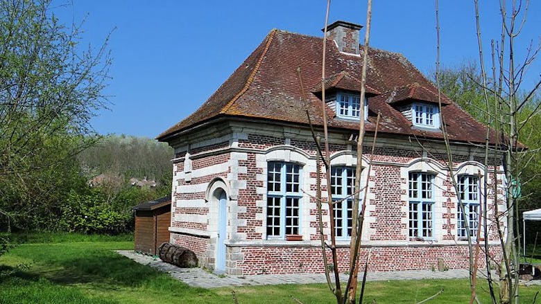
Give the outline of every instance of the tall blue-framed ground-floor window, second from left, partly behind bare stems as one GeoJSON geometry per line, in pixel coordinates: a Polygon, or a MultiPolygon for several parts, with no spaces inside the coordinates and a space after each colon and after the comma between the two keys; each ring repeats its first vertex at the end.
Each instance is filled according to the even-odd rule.
{"type": "Polygon", "coordinates": [[[353,217],[353,197],[355,187],[354,167],[331,168],[331,193],[334,201],[334,233],[337,239],[351,237],[353,217]],[[347,198],[347,199],[346,199],[347,198]]]}

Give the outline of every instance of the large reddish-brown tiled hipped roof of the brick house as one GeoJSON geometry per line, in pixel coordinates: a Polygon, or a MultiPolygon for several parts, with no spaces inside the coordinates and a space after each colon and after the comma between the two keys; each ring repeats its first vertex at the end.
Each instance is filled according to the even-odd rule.
{"type": "MultiPolygon", "coordinates": [[[[304,91],[307,92],[312,123],[323,125],[322,107],[325,107],[329,127],[357,129],[358,123],[337,118],[332,109],[322,105],[320,96],[314,93],[314,89],[321,86],[322,48],[323,38],[272,30],[199,109],[164,131],[157,139],[169,141],[179,132],[224,116],[307,125],[307,106],[302,102],[298,68],[304,91]]],[[[326,64],[329,87],[354,89],[354,84],[361,78],[362,56],[339,52],[332,40],[327,40],[326,64]]],[[[367,91],[381,93],[368,98],[367,132],[375,131],[377,112],[380,111],[382,118],[378,132],[443,138],[441,132],[413,127],[411,121],[397,111],[392,103],[388,103],[393,91],[396,92],[393,97],[395,99],[399,96],[429,102],[434,102],[434,98],[436,102],[438,100],[434,93],[437,92],[436,87],[403,55],[370,48],[366,84],[367,91]]],[[[442,100],[445,105],[442,110],[443,121],[447,125],[449,139],[483,143],[486,127],[446,96],[442,100]]]]}

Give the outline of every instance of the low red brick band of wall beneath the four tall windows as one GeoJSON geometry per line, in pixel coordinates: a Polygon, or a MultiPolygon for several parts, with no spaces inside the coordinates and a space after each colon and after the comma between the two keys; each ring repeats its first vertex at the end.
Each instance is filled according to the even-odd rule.
{"type": "MultiPolygon", "coordinates": [[[[499,260],[499,248],[490,247],[490,253],[499,260]]],[[[404,271],[438,269],[438,259],[449,269],[467,268],[468,250],[465,245],[418,246],[418,247],[372,247],[361,249],[361,265],[370,251],[368,271],[404,271]]],[[[324,271],[321,249],[318,247],[245,247],[241,249],[244,260],[237,262],[243,275],[251,274],[299,274],[324,271]]],[[[338,267],[341,273],[349,271],[349,249],[338,248],[338,267]]],[[[331,254],[327,249],[329,265],[331,254]]],[[[485,260],[480,253],[479,267],[485,260]]]]}

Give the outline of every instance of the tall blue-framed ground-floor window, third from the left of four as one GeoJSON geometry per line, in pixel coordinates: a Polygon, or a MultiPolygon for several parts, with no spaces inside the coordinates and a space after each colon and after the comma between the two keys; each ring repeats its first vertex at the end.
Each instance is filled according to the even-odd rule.
{"type": "Polygon", "coordinates": [[[434,176],[409,173],[409,237],[434,238],[434,176]]]}

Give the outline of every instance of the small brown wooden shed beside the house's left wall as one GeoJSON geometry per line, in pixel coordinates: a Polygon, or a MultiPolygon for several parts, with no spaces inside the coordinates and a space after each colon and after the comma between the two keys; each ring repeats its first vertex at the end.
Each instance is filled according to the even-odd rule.
{"type": "Polygon", "coordinates": [[[163,242],[169,242],[171,197],[162,197],[133,207],[135,211],[135,251],[157,255],[163,242]]]}

